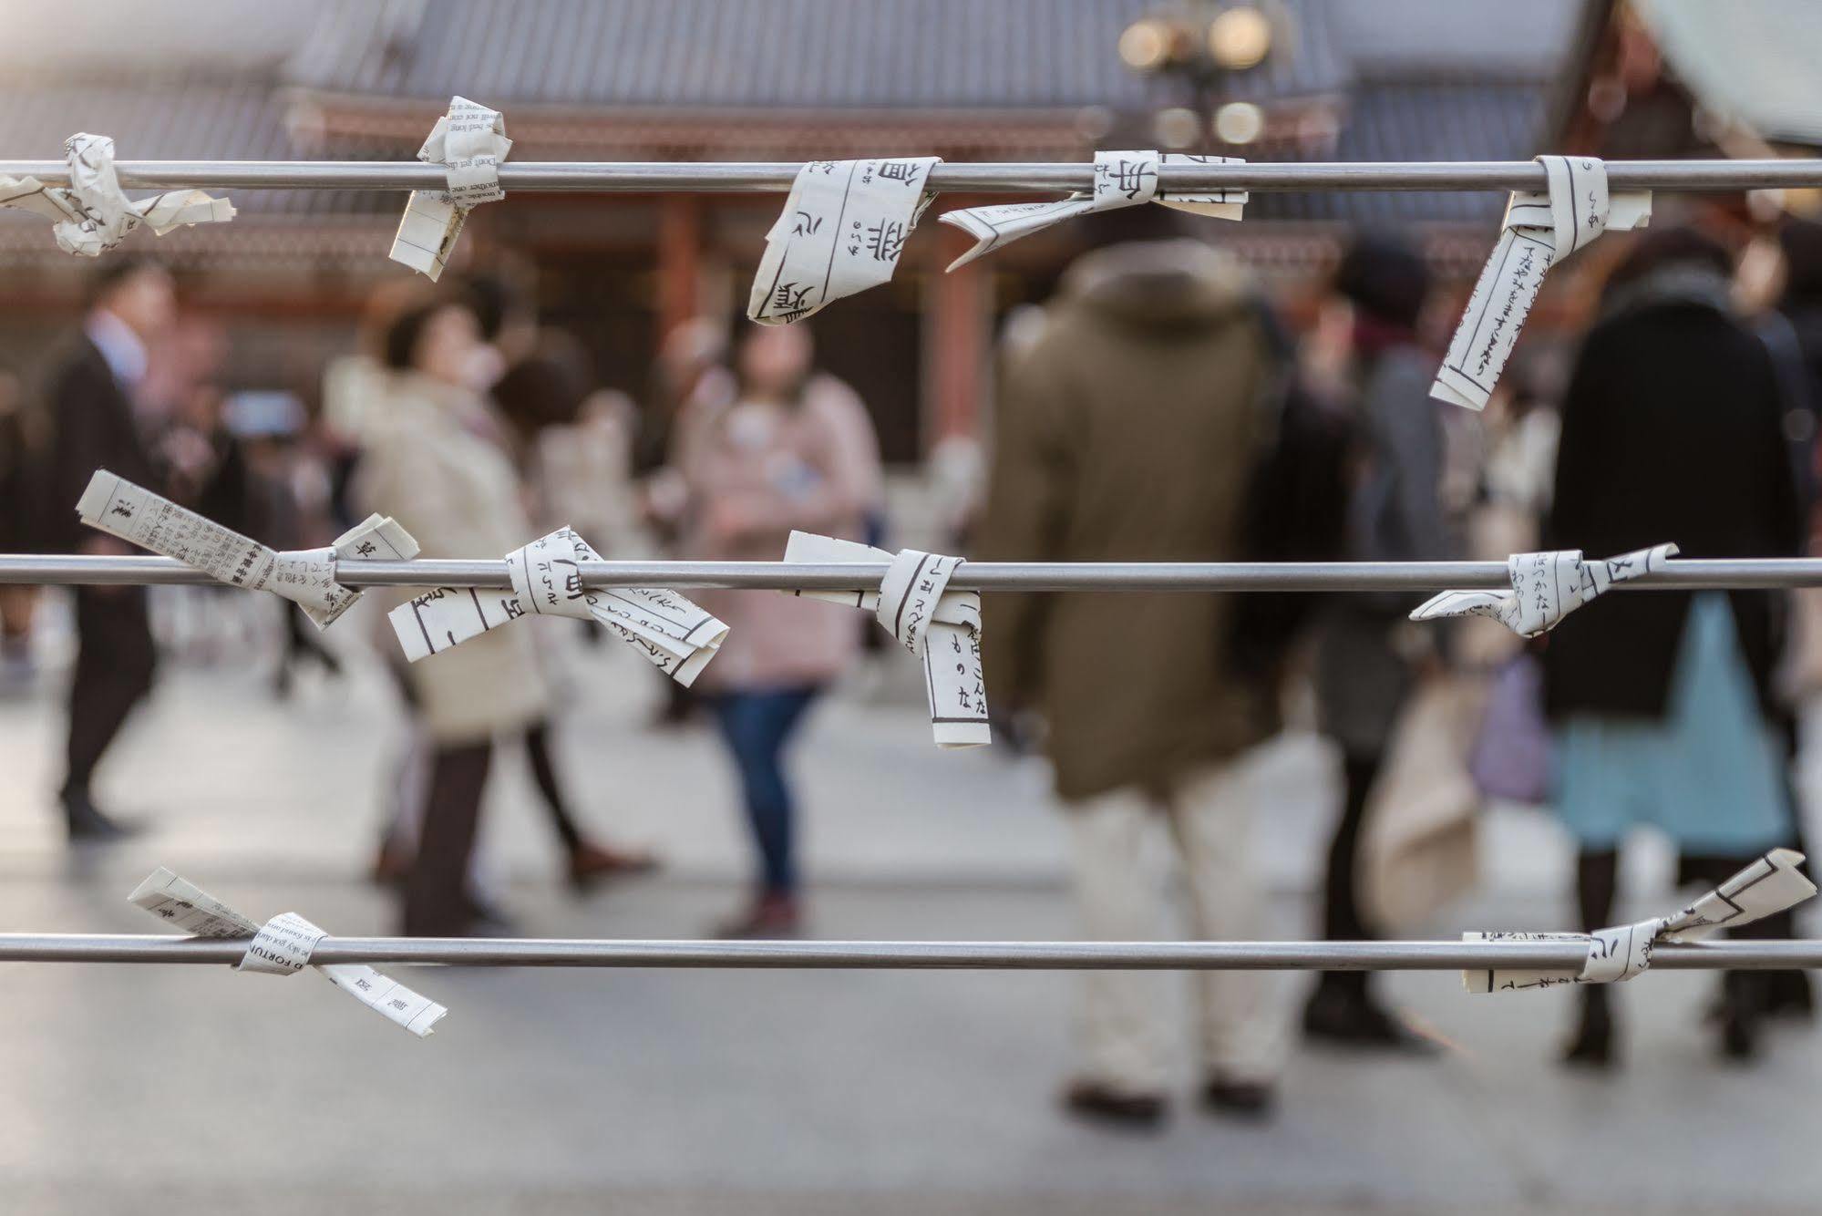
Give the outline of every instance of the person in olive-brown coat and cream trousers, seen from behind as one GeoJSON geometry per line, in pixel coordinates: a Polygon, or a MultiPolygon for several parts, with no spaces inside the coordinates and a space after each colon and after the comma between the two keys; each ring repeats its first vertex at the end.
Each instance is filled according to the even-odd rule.
{"type": "MultiPolygon", "coordinates": [[[[1232,562],[1281,383],[1254,284],[1230,255],[1175,239],[1162,208],[1097,228],[1124,239],[1068,270],[1004,372],[977,556],[1232,562]]],[[[1164,890],[1142,860],[1157,828],[1188,879],[1193,933],[1257,935],[1244,758],[1275,729],[1275,698],[1233,671],[1232,623],[1230,596],[986,598],[989,695],[1048,726],[1093,939],[1157,935],[1164,890]]],[[[1128,1125],[1166,1114],[1172,1034],[1155,983],[1084,977],[1070,1112],[1128,1125]]],[[[1281,1041],[1266,977],[1203,972],[1195,994],[1204,1105],[1261,1116],[1281,1041]]]]}

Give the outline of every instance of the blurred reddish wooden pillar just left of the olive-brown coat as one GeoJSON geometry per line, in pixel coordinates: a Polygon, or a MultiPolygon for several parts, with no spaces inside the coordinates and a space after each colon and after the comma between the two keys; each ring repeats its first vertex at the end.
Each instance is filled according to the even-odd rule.
{"type": "Polygon", "coordinates": [[[940,226],[938,232],[942,239],[937,242],[937,266],[926,301],[929,326],[926,450],[949,436],[973,436],[980,427],[982,383],[989,374],[988,328],[993,312],[993,281],[986,261],[967,263],[953,273],[944,272],[944,266],[973,246],[973,239],[947,226],[940,226]]]}

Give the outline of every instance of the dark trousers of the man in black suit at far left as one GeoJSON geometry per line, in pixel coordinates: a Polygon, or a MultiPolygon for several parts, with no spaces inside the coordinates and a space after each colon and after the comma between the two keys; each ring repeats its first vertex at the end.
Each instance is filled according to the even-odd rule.
{"type": "Polygon", "coordinates": [[[151,691],[157,649],[142,587],[77,589],[77,669],[69,680],[64,797],[87,797],[95,766],[151,691]]]}

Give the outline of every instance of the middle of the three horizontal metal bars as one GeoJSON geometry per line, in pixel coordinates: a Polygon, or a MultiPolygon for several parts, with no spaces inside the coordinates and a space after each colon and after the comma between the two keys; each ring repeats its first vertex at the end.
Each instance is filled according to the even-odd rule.
{"type": "MultiPolygon", "coordinates": [[[[589,587],[876,589],[884,563],[583,562],[589,587]]],[[[346,587],[510,587],[507,563],[337,562],[346,587]]],[[[213,583],[171,558],[0,554],[0,583],[213,583]]],[[[1445,591],[1509,587],[1503,562],[964,562],[957,591],[1445,591]]],[[[1822,558],[1691,558],[1614,583],[1618,591],[1822,587],[1822,558]]]]}

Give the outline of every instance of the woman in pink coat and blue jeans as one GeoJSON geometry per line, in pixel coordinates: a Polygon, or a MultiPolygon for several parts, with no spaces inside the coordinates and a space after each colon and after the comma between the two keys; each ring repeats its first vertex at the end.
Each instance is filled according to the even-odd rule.
{"type": "MultiPolygon", "coordinates": [[[[865,407],[813,372],[804,325],[751,326],[736,361],[740,392],[692,428],[683,458],[683,551],[709,562],[776,562],[793,529],[858,540],[878,498],[880,456],[865,407]]],[[[703,593],[727,622],[696,684],[714,709],[740,775],[760,855],[749,908],[723,935],[796,930],[796,802],[783,751],[816,696],[855,654],[849,609],[818,600],[703,593]]]]}

